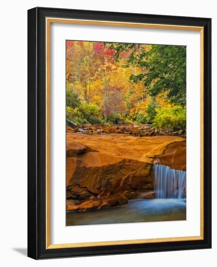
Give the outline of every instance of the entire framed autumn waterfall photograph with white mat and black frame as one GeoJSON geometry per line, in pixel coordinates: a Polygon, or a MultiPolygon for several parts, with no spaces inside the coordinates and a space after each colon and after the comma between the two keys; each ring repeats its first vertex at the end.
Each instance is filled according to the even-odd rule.
{"type": "Polygon", "coordinates": [[[28,256],[211,248],[211,19],[28,10],[28,256]]]}

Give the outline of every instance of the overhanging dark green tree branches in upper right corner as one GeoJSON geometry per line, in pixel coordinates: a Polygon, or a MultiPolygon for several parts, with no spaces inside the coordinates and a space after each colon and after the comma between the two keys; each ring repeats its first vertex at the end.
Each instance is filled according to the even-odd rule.
{"type": "Polygon", "coordinates": [[[166,91],[171,103],[186,105],[186,47],[172,45],[112,44],[118,60],[122,51],[130,51],[125,67],[140,67],[131,74],[134,83],[142,81],[152,97],[166,91]]]}

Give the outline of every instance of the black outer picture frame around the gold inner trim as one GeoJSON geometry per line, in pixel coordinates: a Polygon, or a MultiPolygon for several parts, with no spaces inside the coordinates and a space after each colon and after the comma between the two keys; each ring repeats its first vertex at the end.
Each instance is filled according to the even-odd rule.
{"type": "Polygon", "coordinates": [[[28,10],[28,256],[33,259],[48,259],[209,248],[211,248],[211,19],[44,7],[28,10]],[[46,17],[203,27],[203,240],[46,249],[46,17]]]}

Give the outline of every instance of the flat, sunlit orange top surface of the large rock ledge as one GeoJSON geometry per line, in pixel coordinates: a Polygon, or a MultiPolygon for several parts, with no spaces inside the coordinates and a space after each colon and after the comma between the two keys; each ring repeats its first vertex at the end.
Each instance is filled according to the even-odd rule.
{"type": "Polygon", "coordinates": [[[185,141],[180,136],[137,137],[126,134],[78,134],[67,133],[66,143],[84,145],[88,151],[104,152],[110,156],[153,163],[153,159],[164,153],[165,148],[174,142],[185,141]]]}

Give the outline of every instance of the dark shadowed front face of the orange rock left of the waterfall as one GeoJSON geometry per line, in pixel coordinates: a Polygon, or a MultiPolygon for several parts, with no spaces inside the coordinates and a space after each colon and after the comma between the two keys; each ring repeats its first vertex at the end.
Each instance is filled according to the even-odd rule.
{"type": "MultiPolygon", "coordinates": [[[[67,159],[67,165],[68,165],[67,159]]],[[[146,190],[153,182],[152,164],[109,155],[88,152],[79,155],[74,172],[67,178],[67,197],[89,199],[99,194],[118,194],[131,190],[146,190]]]]}

